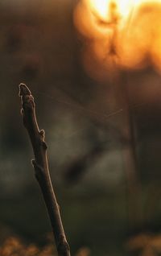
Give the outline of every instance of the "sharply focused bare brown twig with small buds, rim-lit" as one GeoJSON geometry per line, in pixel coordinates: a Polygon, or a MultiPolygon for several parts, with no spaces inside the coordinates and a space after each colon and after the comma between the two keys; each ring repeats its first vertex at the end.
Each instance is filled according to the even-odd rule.
{"type": "Polygon", "coordinates": [[[47,144],[44,141],[44,130],[39,130],[35,115],[35,102],[27,85],[19,85],[19,97],[21,97],[23,109],[23,124],[27,129],[33,147],[35,160],[32,160],[35,168],[35,177],[43,193],[43,199],[47,206],[47,212],[52,223],[56,248],[59,256],[70,256],[70,249],[65,237],[64,228],[60,217],[60,208],[52,188],[52,181],[47,163],[47,144]]]}

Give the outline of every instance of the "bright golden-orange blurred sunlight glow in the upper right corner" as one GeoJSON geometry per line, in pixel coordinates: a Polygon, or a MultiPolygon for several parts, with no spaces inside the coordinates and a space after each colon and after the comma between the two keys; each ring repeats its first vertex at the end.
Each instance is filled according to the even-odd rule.
{"type": "Polygon", "coordinates": [[[82,59],[89,75],[149,64],[161,71],[160,17],[161,0],[80,0],[74,23],[88,39],[82,59]]]}

